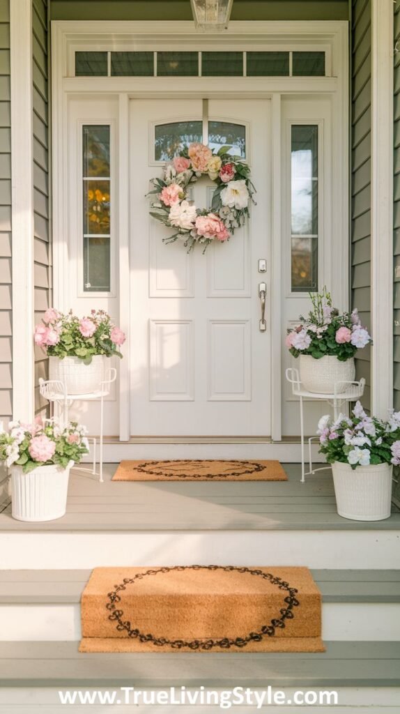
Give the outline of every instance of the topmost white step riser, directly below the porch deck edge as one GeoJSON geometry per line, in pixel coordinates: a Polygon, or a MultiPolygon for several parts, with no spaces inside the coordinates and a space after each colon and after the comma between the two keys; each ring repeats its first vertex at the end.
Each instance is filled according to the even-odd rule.
{"type": "Polygon", "coordinates": [[[1,533],[4,570],[118,565],[307,565],[400,568],[400,531],[1,533]]]}

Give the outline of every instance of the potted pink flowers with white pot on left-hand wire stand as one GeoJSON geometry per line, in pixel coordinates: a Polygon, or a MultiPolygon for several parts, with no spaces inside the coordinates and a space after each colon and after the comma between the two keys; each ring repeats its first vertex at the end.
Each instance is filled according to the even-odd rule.
{"type": "Polygon", "coordinates": [[[50,379],[61,381],[68,394],[84,394],[99,388],[106,357],[122,357],[118,347],[125,334],[103,310],[78,318],[72,310],[50,308],[36,325],[34,340],[48,354],[50,379]]]}

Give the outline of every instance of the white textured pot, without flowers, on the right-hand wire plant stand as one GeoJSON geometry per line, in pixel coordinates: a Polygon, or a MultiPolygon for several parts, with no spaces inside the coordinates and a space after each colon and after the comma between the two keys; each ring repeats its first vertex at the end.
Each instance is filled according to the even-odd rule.
{"type": "Polygon", "coordinates": [[[326,356],[314,359],[311,355],[300,355],[300,381],[309,392],[317,394],[333,394],[335,384],[337,394],[347,390],[347,384],[339,382],[352,382],[356,376],[354,359],[350,358],[341,362],[337,357],[326,356]]]}

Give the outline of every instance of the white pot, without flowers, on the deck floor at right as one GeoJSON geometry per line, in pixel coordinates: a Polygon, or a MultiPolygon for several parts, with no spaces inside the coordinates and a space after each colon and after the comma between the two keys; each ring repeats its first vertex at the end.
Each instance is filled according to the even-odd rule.
{"type": "Polygon", "coordinates": [[[332,463],[337,512],[352,521],[383,521],[391,511],[393,466],[357,466],[332,463]]]}

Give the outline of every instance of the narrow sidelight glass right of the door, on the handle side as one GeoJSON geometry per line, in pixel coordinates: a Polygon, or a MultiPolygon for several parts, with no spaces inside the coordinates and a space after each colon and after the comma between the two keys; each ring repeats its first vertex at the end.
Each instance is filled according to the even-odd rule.
{"type": "Polygon", "coordinates": [[[318,126],[292,126],[291,157],[292,291],[317,291],[318,126]]]}

